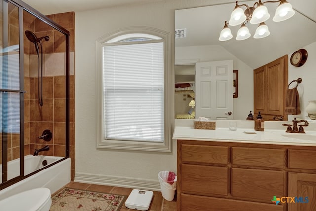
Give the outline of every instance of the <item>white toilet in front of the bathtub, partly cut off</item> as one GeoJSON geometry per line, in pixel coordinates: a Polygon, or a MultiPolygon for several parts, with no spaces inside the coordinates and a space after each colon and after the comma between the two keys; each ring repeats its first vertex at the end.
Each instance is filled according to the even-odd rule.
{"type": "Polygon", "coordinates": [[[3,211],[49,211],[50,197],[48,188],[35,188],[1,200],[0,208],[3,211]]]}

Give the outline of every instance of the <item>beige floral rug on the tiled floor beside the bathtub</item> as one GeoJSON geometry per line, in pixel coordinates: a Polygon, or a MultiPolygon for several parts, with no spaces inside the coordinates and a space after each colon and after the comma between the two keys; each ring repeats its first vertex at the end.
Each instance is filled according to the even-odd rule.
{"type": "Polygon", "coordinates": [[[50,211],[119,211],[126,196],[64,188],[52,197],[50,211]]]}

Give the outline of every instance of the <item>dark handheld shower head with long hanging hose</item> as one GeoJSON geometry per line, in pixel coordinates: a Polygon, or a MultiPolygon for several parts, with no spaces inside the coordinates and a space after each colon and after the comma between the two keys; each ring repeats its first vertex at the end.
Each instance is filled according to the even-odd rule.
{"type": "Polygon", "coordinates": [[[43,106],[43,46],[41,41],[44,39],[45,41],[49,41],[49,36],[36,37],[36,35],[29,31],[25,31],[25,35],[30,42],[34,44],[36,53],[38,55],[38,95],[39,95],[39,103],[40,106],[43,106]],[[39,43],[40,43],[40,52],[39,52],[39,43]],[[41,59],[40,59],[41,54],[41,59]]]}

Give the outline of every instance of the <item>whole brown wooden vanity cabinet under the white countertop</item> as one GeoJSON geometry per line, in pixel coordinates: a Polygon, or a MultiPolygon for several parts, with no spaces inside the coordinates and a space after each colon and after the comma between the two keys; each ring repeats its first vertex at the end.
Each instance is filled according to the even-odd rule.
{"type": "Polygon", "coordinates": [[[177,153],[178,211],[316,210],[316,147],[177,140],[177,153]]]}

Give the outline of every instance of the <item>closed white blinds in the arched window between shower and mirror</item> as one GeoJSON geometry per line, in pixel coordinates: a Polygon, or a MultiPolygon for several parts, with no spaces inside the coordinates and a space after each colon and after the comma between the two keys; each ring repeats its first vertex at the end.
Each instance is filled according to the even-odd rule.
{"type": "Polygon", "coordinates": [[[103,46],[105,139],[164,139],[163,42],[103,46]]]}

